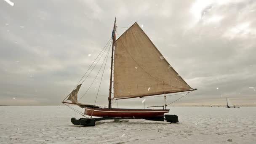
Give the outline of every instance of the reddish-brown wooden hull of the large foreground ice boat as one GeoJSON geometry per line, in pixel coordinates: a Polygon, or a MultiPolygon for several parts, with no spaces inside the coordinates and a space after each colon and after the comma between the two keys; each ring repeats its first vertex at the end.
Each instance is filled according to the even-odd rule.
{"type": "Polygon", "coordinates": [[[95,117],[163,117],[169,109],[108,109],[85,107],[85,115],[95,117]]]}

